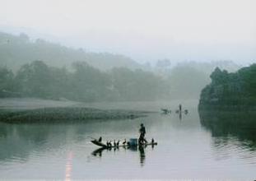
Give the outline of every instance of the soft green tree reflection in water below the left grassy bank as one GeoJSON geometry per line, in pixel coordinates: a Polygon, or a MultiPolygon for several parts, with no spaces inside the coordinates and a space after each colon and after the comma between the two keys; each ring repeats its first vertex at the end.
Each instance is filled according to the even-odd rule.
{"type": "Polygon", "coordinates": [[[67,125],[0,123],[0,161],[13,157],[27,160],[32,151],[58,149],[67,134],[67,125]]]}

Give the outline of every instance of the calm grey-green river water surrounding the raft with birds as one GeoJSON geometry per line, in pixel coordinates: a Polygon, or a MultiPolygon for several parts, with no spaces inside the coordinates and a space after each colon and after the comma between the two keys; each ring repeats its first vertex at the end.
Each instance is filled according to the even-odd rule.
{"type": "MultiPolygon", "coordinates": [[[[176,103],[91,104],[99,108],[146,109],[176,103]]],[[[249,137],[200,122],[197,103],[188,115],[150,114],[133,120],[75,124],[0,123],[1,179],[256,179],[255,130],[249,137]],[[140,123],[157,146],[97,151],[90,137],[137,137],[140,123]]],[[[201,118],[202,119],[202,118],[201,118]]],[[[207,118],[206,118],[207,119],[207,118]]],[[[248,128],[248,129],[249,129],[248,128]]],[[[245,130],[246,131],[246,130],[245,130]]]]}

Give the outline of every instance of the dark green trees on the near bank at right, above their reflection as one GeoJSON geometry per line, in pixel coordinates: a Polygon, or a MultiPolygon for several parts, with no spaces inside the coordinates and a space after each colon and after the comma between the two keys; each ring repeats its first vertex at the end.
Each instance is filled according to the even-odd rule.
{"type": "Polygon", "coordinates": [[[216,67],[211,79],[212,83],[202,90],[199,109],[207,105],[216,105],[220,109],[224,106],[227,109],[234,106],[238,109],[255,109],[256,64],[232,73],[216,67]]]}

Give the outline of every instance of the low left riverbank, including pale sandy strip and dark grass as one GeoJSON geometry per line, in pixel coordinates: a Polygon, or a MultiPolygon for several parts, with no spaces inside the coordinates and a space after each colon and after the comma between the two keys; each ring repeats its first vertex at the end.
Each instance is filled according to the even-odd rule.
{"type": "Polygon", "coordinates": [[[75,123],[88,120],[146,117],[150,111],[94,109],[79,102],[39,99],[1,99],[0,121],[5,123],[75,123]]]}

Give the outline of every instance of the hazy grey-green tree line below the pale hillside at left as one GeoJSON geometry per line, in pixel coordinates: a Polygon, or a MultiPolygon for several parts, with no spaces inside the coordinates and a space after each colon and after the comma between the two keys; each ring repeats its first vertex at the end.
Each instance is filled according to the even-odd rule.
{"type": "Polygon", "coordinates": [[[74,71],[49,67],[42,61],[27,63],[16,72],[0,69],[0,97],[26,96],[78,101],[156,100],[168,96],[165,81],[152,72],[114,68],[109,72],[73,63],[74,71]]]}

